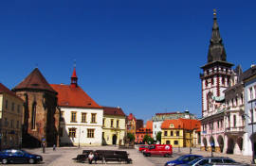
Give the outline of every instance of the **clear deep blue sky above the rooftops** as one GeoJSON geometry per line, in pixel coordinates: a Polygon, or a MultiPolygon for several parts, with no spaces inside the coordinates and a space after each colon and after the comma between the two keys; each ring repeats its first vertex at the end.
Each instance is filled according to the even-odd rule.
{"type": "Polygon", "coordinates": [[[255,62],[255,1],[1,1],[0,82],[14,88],[36,66],[49,83],[79,85],[101,106],[148,120],[189,109],[201,116],[200,66],[212,9],[228,61],[255,62]]]}

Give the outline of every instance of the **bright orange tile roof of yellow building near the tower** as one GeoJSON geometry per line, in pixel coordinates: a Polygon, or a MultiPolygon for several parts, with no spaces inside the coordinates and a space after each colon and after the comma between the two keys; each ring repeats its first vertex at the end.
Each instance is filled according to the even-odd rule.
{"type": "Polygon", "coordinates": [[[196,131],[201,130],[201,122],[194,119],[175,119],[175,120],[166,120],[161,125],[162,129],[170,129],[170,128],[181,128],[181,129],[196,129],[196,131]],[[173,124],[174,127],[170,127],[170,125],[173,124]]]}

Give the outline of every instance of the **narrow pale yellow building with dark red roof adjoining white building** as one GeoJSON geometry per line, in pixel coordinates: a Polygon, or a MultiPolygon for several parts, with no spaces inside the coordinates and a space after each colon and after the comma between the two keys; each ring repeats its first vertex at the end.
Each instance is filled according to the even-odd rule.
{"type": "Polygon", "coordinates": [[[125,117],[121,108],[103,108],[103,145],[123,144],[125,136],[125,117]]]}

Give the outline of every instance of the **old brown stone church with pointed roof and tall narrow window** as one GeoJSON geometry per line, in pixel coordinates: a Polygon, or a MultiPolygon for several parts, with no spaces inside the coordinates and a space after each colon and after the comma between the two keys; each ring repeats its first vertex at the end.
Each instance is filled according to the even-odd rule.
{"type": "Polygon", "coordinates": [[[23,108],[23,147],[59,145],[59,119],[57,92],[44,75],[35,68],[12,91],[24,100],[23,108]]]}

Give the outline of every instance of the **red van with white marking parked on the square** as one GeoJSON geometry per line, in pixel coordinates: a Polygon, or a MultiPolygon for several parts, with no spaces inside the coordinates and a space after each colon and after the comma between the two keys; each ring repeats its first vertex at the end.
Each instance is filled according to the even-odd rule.
{"type": "Polygon", "coordinates": [[[163,156],[163,157],[172,157],[173,147],[171,144],[152,144],[149,148],[146,148],[143,151],[143,155],[146,157],[150,156],[163,156]]]}

